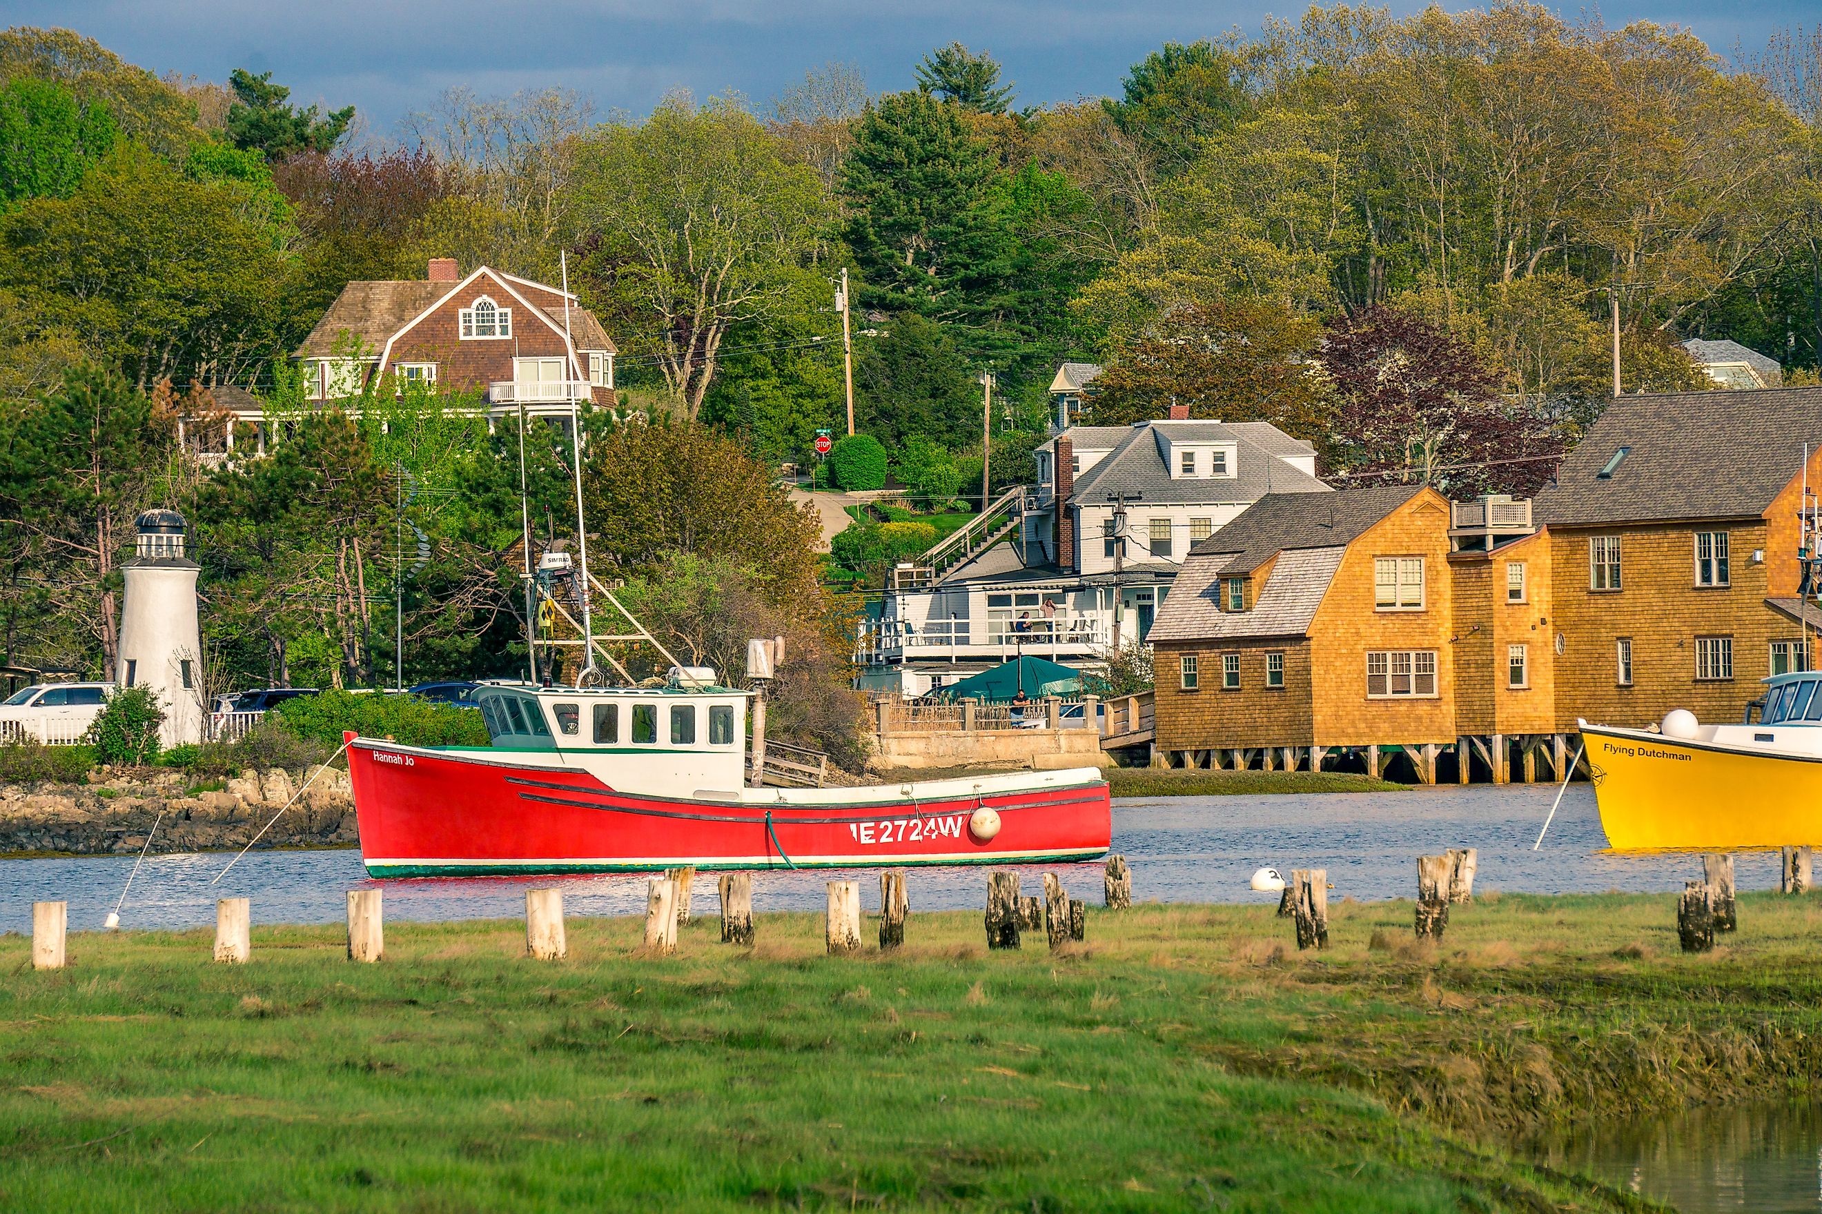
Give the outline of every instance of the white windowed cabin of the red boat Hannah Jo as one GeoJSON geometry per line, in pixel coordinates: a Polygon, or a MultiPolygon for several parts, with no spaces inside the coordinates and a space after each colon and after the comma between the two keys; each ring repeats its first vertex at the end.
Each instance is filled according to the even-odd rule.
{"type": "Polygon", "coordinates": [[[492,750],[550,750],[612,788],[740,788],[747,766],[747,699],[723,686],[485,686],[476,706],[492,750]]]}

